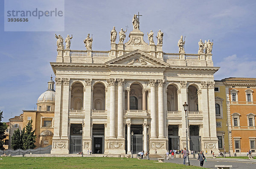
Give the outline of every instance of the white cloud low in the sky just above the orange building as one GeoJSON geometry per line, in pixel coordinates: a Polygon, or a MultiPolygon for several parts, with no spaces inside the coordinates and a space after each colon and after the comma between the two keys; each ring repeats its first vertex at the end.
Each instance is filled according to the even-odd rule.
{"type": "Polygon", "coordinates": [[[215,66],[220,66],[220,70],[215,73],[215,79],[220,80],[227,77],[255,77],[256,60],[247,56],[238,57],[236,54],[223,58],[215,66]]]}

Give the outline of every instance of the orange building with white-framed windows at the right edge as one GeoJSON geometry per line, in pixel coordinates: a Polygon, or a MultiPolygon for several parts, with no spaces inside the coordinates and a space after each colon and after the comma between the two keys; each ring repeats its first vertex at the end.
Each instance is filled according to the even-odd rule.
{"type": "Polygon", "coordinates": [[[227,116],[230,149],[236,155],[256,152],[256,78],[226,78],[227,116]]]}

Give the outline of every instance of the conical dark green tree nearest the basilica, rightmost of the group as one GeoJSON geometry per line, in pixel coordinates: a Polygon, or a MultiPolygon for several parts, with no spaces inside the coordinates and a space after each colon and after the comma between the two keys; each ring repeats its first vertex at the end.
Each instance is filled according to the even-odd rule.
{"type": "Polygon", "coordinates": [[[23,136],[23,149],[34,149],[36,147],[35,145],[35,130],[32,131],[32,120],[29,120],[28,124],[26,125],[26,132],[23,136]]]}

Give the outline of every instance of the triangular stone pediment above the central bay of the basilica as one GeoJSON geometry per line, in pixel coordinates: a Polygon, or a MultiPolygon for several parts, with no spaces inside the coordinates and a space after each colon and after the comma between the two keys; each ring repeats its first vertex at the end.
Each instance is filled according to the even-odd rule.
{"type": "Polygon", "coordinates": [[[128,54],[119,56],[105,63],[106,65],[133,65],[133,66],[169,66],[166,62],[161,61],[143,51],[136,50],[128,54]]]}

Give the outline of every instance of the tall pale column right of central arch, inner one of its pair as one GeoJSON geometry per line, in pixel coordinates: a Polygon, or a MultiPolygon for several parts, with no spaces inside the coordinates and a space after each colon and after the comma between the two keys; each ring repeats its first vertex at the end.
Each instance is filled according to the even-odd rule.
{"type": "Polygon", "coordinates": [[[151,104],[151,135],[150,138],[157,138],[157,117],[156,117],[156,89],[155,84],[157,80],[150,81],[150,104],[151,104]]]}

